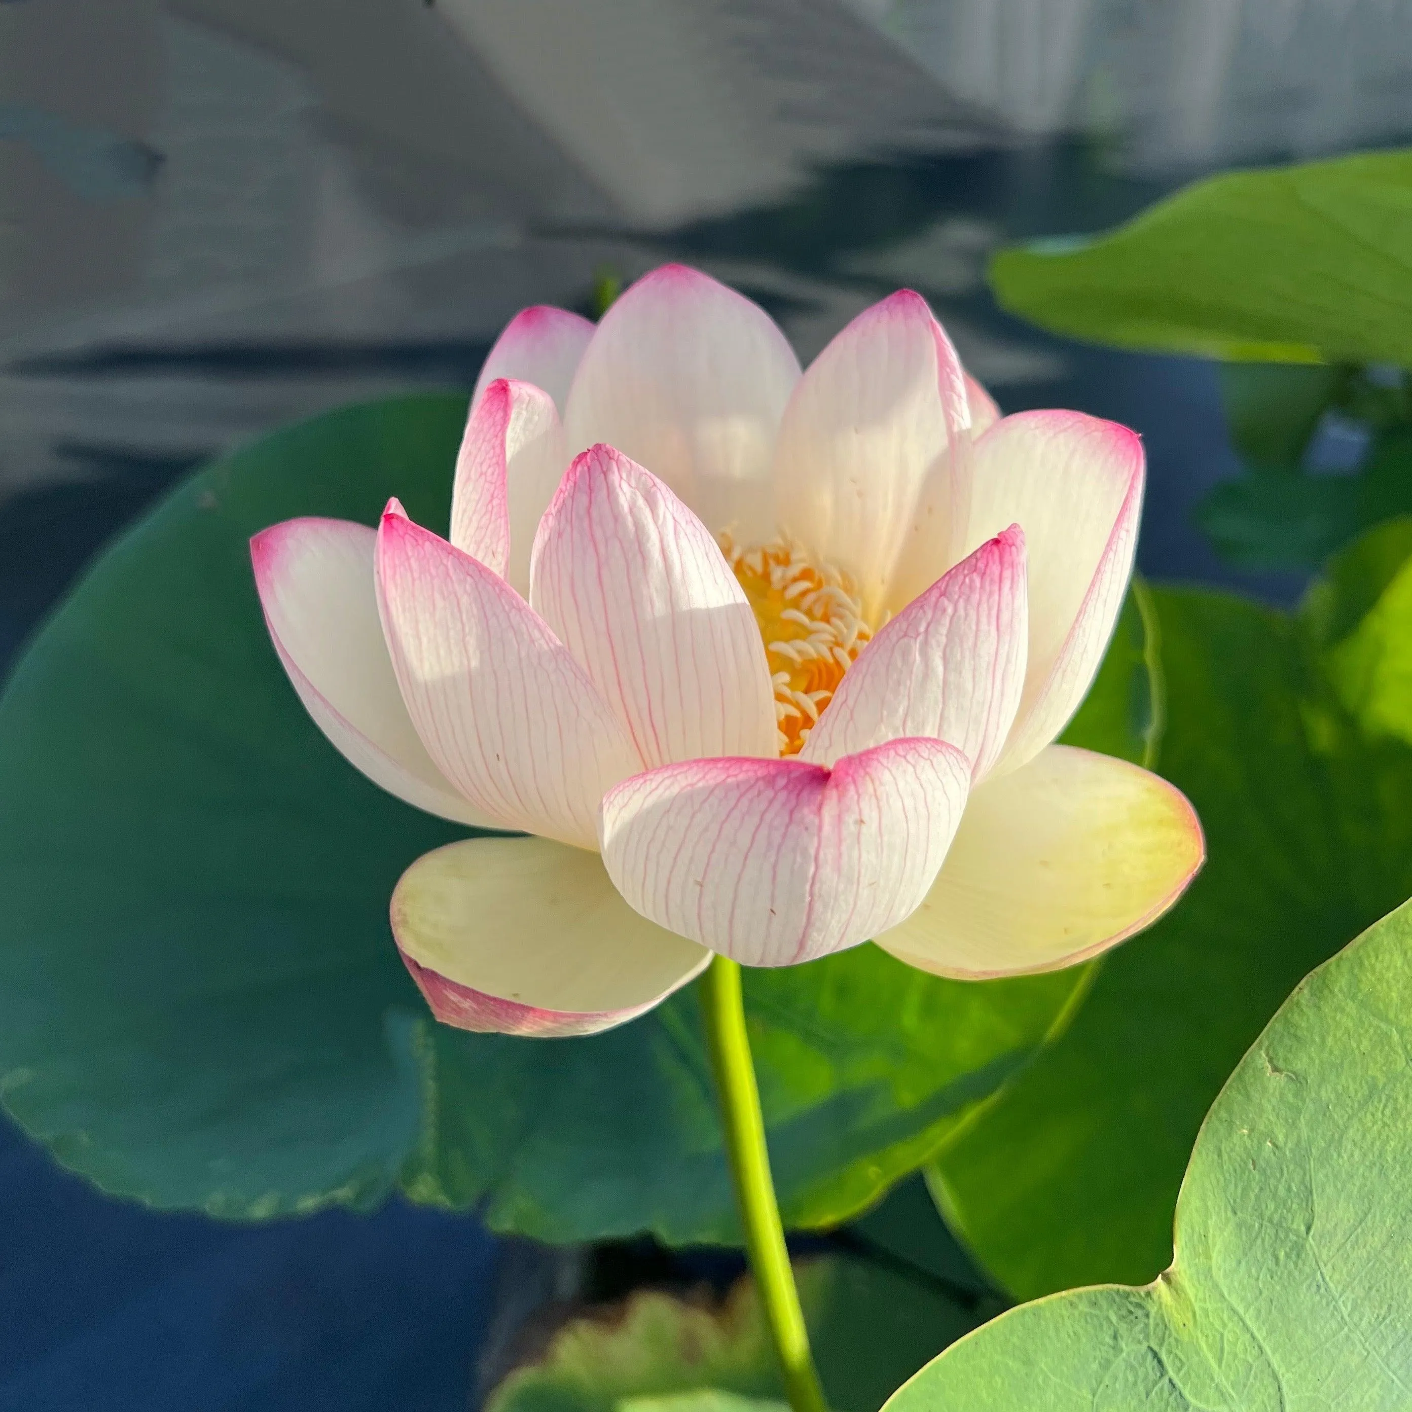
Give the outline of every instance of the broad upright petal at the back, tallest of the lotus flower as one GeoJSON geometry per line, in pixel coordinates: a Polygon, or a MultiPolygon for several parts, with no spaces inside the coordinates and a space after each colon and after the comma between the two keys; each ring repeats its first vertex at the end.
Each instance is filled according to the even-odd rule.
{"type": "Polygon", "coordinates": [[[665,480],[712,532],[774,531],[770,455],[799,361],[764,309],[685,265],[644,275],[583,354],[569,455],[617,446],[665,480]]]}

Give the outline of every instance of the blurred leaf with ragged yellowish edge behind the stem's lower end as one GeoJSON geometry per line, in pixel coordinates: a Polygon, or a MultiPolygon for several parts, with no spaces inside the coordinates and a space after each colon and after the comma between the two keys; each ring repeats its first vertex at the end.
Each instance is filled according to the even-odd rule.
{"type": "MultiPolygon", "coordinates": [[[[798,1279],[833,1412],[875,1412],[904,1378],[976,1323],[925,1279],[864,1260],[801,1262],[798,1279]]],[[[648,1399],[688,1412],[682,1395],[707,1391],[781,1395],[748,1279],[720,1308],[645,1291],[575,1320],[542,1358],[491,1394],[486,1412],[642,1412],[648,1399]]]]}

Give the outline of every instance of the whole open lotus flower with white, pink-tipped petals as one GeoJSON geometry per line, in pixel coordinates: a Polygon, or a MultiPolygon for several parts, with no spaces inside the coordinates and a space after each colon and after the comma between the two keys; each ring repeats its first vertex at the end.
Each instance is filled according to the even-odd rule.
{"type": "Polygon", "coordinates": [[[874,940],[953,977],[1052,970],[1202,863],[1186,799],[1052,741],[1132,568],[1144,459],[1077,412],[1000,418],[926,304],[808,373],[679,265],[594,328],[520,313],[480,377],[450,537],[253,541],[304,705],[408,803],[514,836],[419,858],[393,931],[442,1021],[587,1034],[713,952],[874,940]]]}

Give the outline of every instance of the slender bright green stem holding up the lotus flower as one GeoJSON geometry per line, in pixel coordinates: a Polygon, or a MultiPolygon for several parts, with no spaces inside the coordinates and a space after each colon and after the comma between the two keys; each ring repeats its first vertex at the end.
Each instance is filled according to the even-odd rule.
{"type": "Polygon", "coordinates": [[[746,1035],[740,964],[717,956],[702,977],[700,998],[706,1012],[712,1069],[716,1072],[716,1089],[720,1094],[726,1156],[736,1183],[740,1223],[746,1228],[746,1252],[779,1360],[785,1394],[794,1412],[826,1412],[823,1388],[819,1385],[813,1354],[809,1353],[809,1332],[799,1308],[799,1291],[789,1267],[775,1183],[770,1176],[765,1121],[760,1113],[760,1089],[746,1035]]]}

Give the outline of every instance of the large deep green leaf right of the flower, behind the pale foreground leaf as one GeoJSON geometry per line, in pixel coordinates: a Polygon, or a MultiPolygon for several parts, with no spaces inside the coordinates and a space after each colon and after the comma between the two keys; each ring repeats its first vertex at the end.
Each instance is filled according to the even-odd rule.
{"type": "Polygon", "coordinates": [[[1196,805],[1209,860],[939,1156],[949,1217],[1017,1295],[1168,1264],[1221,1079],[1300,976],[1412,892],[1409,552],[1412,524],[1380,528],[1298,617],[1154,592],[1161,771],[1196,805]]]}

